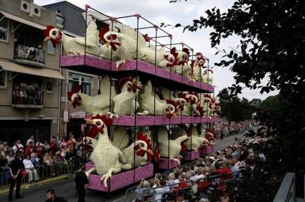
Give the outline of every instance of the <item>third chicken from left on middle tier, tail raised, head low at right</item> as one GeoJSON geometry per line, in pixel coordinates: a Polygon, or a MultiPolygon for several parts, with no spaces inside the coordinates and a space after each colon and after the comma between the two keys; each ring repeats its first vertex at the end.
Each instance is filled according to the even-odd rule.
{"type": "Polygon", "coordinates": [[[178,110],[175,102],[167,100],[168,102],[165,103],[160,101],[157,94],[155,97],[156,99],[154,99],[154,94],[152,93],[152,82],[148,81],[144,87],[143,94],[140,95],[140,108],[146,110],[150,115],[165,115],[168,118],[177,116],[178,110]]]}

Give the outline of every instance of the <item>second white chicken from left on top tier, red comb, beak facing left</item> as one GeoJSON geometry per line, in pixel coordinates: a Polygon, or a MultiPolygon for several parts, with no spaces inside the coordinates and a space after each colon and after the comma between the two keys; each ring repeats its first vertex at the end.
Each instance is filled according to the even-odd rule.
{"type": "MultiPolygon", "coordinates": [[[[140,31],[132,29],[130,26],[122,26],[121,32],[110,31],[109,26],[105,26],[99,33],[99,37],[106,44],[116,51],[115,56],[120,58],[116,61],[116,66],[125,63],[126,60],[135,59],[137,56],[137,35],[138,35],[138,57],[141,56],[139,50],[147,46],[147,43],[140,31]]],[[[103,53],[101,53],[104,55],[103,53]]]]}

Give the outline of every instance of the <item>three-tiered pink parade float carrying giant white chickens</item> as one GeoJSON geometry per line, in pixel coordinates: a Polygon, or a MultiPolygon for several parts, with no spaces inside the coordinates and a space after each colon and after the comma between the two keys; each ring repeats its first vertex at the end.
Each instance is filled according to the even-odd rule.
{"type": "Polygon", "coordinates": [[[86,163],[89,188],[113,192],[211,150],[220,104],[213,97],[209,59],[173,43],[171,34],[140,14],[107,16],[98,30],[87,21],[88,10],[107,16],[86,5],[85,37],[52,26],[44,35],[54,46],[62,43],[61,68],[101,77],[99,95],[86,95],[80,86],[68,92],[70,107],[82,105],[89,113],[91,127],[83,139],[93,149],[86,163]],[[120,23],[126,18],[136,27],[120,23]],[[143,34],[147,29],[152,36],[143,34]]]}

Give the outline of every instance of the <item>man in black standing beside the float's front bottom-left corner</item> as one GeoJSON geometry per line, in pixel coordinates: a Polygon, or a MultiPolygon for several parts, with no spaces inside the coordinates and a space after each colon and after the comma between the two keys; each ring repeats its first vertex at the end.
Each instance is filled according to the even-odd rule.
{"type": "Polygon", "coordinates": [[[75,175],[75,189],[78,194],[78,202],[85,202],[86,189],[89,183],[85,170],[86,166],[82,165],[81,171],[75,175]]]}

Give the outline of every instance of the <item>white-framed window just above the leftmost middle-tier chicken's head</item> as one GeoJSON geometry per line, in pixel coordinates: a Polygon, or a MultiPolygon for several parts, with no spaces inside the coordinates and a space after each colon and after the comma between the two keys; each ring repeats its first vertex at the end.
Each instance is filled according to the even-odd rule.
{"type": "Polygon", "coordinates": [[[72,87],[81,85],[81,92],[87,95],[91,95],[91,82],[92,77],[82,74],[69,73],[69,91],[72,87]]]}

